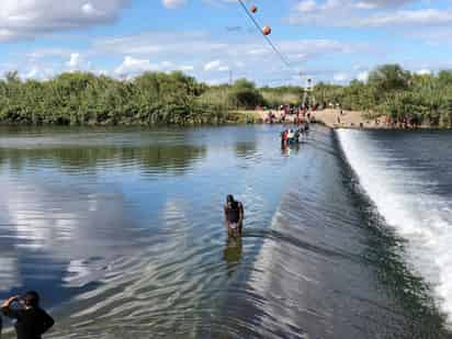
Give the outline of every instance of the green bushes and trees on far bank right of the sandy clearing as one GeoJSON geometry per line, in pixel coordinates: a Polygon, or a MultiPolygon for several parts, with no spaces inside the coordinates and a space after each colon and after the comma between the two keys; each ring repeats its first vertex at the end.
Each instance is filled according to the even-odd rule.
{"type": "Polygon", "coordinates": [[[349,86],[318,83],[317,100],[339,103],[344,110],[389,115],[393,121],[415,120],[431,126],[452,127],[452,71],[415,75],[398,65],[384,65],[366,82],[349,86]]]}

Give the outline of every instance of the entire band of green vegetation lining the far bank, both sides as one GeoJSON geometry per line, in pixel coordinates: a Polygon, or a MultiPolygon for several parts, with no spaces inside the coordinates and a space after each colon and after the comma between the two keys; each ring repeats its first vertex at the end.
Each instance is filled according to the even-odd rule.
{"type": "MultiPolygon", "coordinates": [[[[222,124],[231,112],[256,106],[301,105],[302,87],[260,88],[246,79],[207,86],[182,72],[146,72],[121,81],[93,74],[63,74],[46,81],[22,81],[16,72],[0,80],[0,123],[29,125],[222,124]]],[[[416,120],[452,126],[452,71],[415,75],[385,65],[369,81],[318,83],[317,103],[340,104],[370,116],[416,120]]]]}

